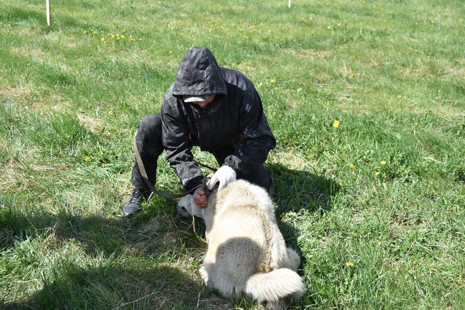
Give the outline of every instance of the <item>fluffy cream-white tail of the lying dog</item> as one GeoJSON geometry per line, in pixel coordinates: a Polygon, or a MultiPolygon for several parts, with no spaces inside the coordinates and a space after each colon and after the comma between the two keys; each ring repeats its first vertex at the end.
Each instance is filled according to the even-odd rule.
{"type": "Polygon", "coordinates": [[[254,274],[247,280],[246,294],[266,303],[266,310],[283,310],[304,293],[302,278],[288,268],[254,274]]]}

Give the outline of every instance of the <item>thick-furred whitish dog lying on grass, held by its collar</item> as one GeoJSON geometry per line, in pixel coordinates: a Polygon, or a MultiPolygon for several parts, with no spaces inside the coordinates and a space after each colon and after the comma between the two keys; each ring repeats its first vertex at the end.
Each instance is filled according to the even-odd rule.
{"type": "Polygon", "coordinates": [[[299,254],[286,247],[265,189],[236,180],[208,196],[199,208],[192,195],[179,200],[184,216],[205,220],[207,253],[200,273],[226,298],[250,297],[282,310],[304,293],[299,254]]]}

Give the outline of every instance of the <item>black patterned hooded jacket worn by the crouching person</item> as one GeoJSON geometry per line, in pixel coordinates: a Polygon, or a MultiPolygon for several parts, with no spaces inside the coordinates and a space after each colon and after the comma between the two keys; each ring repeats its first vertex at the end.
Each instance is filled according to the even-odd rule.
{"type": "Polygon", "coordinates": [[[238,177],[266,161],[276,146],[263,105],[252,82],[241,72],[220,67],[206,47],[191,47],[182,59],[176,80],[161,104],[166,161],[176,169],[186,190],[199,185],[202,171],[191,149],[213,151],[226,144],[234,148],[225,165],[238,177]],[[206,110],[185,103],[182,95],[216,94],[206,110]]]}

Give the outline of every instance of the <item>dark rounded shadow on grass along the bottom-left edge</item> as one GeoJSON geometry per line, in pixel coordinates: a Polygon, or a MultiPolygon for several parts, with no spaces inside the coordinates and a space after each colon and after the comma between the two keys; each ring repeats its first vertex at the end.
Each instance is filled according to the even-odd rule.
{"type": "Polygon", "coordinates": [[[38,291],[15,302],[0,299],[0,308],[194,309],[198,304],[199,309],[221,309],[225,304],[175,267],[143,261],[123,264],[111,258],[85,267],[60,262],[37,281],[38,291]]]}

